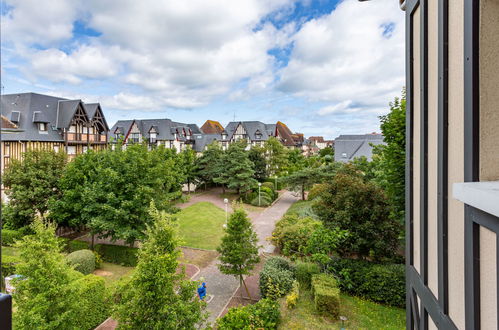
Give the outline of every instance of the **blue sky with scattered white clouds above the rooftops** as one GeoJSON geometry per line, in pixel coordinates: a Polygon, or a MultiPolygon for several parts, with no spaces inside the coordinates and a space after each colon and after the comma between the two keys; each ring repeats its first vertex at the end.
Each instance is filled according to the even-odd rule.
{"type": "Polygon", "coordinates": [[[2,93],[100,102],[107,121],[379,132],[404,86],[396,0],[6,0],[2,93]]]}

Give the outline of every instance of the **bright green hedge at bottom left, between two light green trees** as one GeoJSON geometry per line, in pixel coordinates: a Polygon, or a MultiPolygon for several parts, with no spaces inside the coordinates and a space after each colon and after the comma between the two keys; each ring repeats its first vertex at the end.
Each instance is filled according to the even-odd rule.
{"type": "Polygon", "coordinates": [[[79,327],[94,329],[109,315],[106,307],[106,287],[102,277],[86,275],[71,283],[73,290],[80,297],[78,306],[79,327]]]}

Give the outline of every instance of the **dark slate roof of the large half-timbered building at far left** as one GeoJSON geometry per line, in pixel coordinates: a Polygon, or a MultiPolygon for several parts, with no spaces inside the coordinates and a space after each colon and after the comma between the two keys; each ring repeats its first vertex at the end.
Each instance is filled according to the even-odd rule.
{"type": "MultiPolygon", "coordinates": [[[[69,128],[78,105],[81,104],[86,111],[81,100],[67,100],[37,93],[2,95],[0,102],[2,115],[18,128],[18,131],[9,130],[8,134],[4,131],[4,141],[63,142],[62,129],[69,128]],[[48,123],[47,131],[38,131],[39,122],[48,123]]],[[[3,120],[2,128],[5,128],[3,120]]]]}

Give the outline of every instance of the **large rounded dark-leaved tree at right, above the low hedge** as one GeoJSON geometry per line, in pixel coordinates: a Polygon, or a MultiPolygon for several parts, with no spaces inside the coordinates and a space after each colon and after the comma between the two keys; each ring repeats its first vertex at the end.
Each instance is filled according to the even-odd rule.
{"type": "Polygon", "coordinates": [[[339,171],[313,209],[327,228],[350,233],[338,248],[342,255],[380,260],[397,250],[400,224],[390,217],[383,190],[359,173],[339,171]]]}

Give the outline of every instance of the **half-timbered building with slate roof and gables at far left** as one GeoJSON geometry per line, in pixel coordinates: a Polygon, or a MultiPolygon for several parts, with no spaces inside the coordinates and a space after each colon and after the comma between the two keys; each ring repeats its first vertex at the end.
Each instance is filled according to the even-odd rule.
{"type": "Polygon", "coordinates": [[[34,149],[64,151],[72,159],[107,146],[108,126],[98,103],[36,93],[2,95],[1,169],[34,149]]]}

